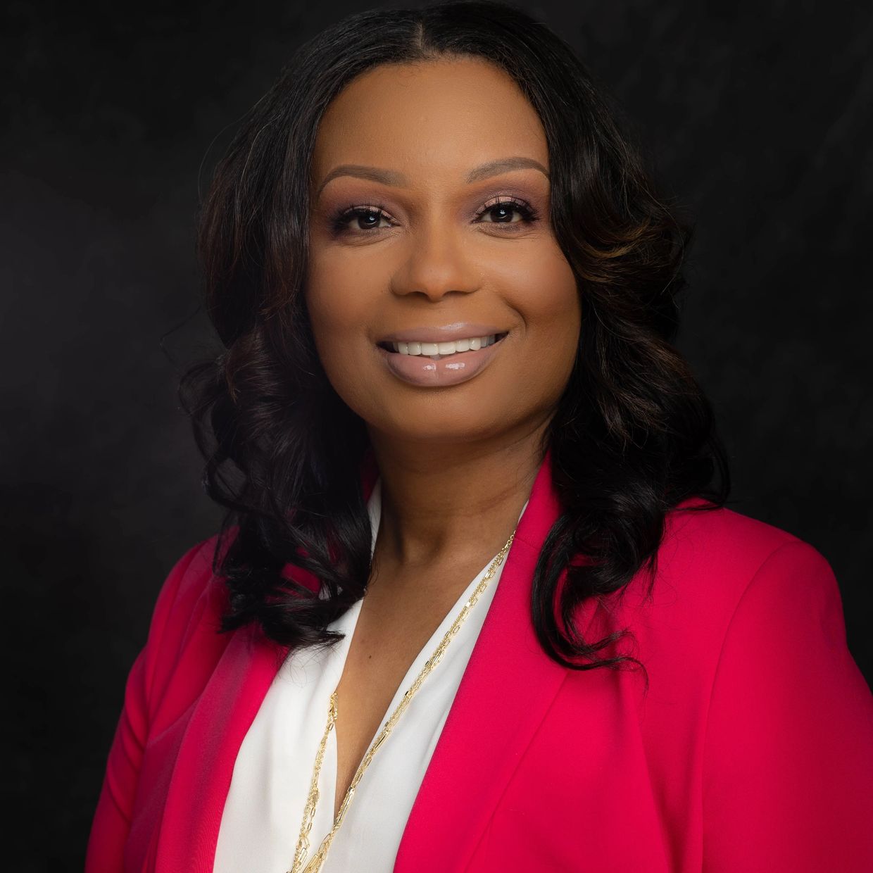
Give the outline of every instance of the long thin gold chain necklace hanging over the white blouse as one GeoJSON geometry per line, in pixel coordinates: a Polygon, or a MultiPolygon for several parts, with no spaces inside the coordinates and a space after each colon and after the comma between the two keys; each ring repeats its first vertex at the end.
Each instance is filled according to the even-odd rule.
{"type": "MultiPolygon", "coordinates": [[[[358,782],[361,781],[361,776],[366,771],[367,767],[371,760],[373,760],[373,756],[376,751],[379,749],[379,746],[382,746],[385,738],[391,732],[392,728],[397,724],[398,719],[401,717],[403,711],[406,710],[406,707],[409,705],[409,701],[415,696],[416,691],[421,687],[421,684],[424,681],[424,678],[430,673],[430,670],[436,666],[437,663],[440,662],[443,657],[443,652],[448,647],[449,643],[453,636],[457,634],[458,629],[464,623],[464,619],[467,617],[471,608],[476,605],[476,601],[478,601],[479,595],[485,591],[485,587],[488,582],[491,581],[497,568],[500,566],[500,563],[505,558],[506,553],[509,551],[509,547],[512,546],[512,540],[515,537],[515,531],[512,531],[512,536],[510,536],[509,540],[506,540],[506,545],[503,546],[502,549],[497,554],[497,557],[491,561],[491,565],[488,567],[488,570],[485,572],[485,575],[479,581],[479,584],[476,586],[473,593],[470,595],[466,603],[464,603],[464,607],[458,613],[454,622],[450,629],[445,632],[445,636],[443,636],[442,641],[434,650],[433,655],[427,660],[424,664],[421,672],[419,672],[415,681],[409,685],[409,688],[403,694],[403,697],[400,700],[400,703],[395,708],[395,711],[391,713],[390,718],[382,725],[382,730],[379,732],[372,746],[369,747],[367,754],[364,755],[363,760],[361,760],[361,764],[358,765],[358,769],[354,773],[354,778],[348,786],[348,790],[346,792],[346,796],[342,799],[342,805],[340,806],[340,810],[336,815],[336,821],[333,822],[333,828],[327,833],[325,838],[321,841],[318,851],[313,855],[312,859],[306,863],[306,867],[304,867],[304,863],[306,861],[306,854],[309,851],[309,831],[313,827],[313,818],[315,817],[315,808],[319,802],[319,773],[321,772],[321,761],[324,759],[325,746],[327,746],[327,736],[333,730],[333,725],[336,722],[337,718],[337,707],[336,707],[336,691],[333,691],[333,694],[330,696],[330,705],[327,710],[327,725],[325,727],[325,732],[321,737],[321,742],[319,744],[319,751],[315,756],[315,766],[313,769],[313,779],[309,786],[309,794],[306,799],[306,808],[303,811],[303,823],[300,827],[300,835],[297,841],[297,848],[294,850],[294,862],[292,863],[291,870],[288,870],[288,873],[319,873],[321,870],[321,865],[324,863],[325,858],[327,857],[327,849],[330,849],[330,845],[333,842],[333,835],[336,834],[337,830],[340,828],[340,824],[342,824],[342,820],[346,815],[346,810],[348,805],[352,802],[352,798],[354,797],[354,789],[358,786],[358,782]]],[[[339,687],[339,686],[338,686],[339,687]]]]}

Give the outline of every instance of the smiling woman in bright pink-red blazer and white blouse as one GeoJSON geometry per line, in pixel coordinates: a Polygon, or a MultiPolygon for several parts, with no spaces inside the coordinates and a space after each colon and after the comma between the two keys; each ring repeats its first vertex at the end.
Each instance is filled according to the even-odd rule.
{"type": "Polygon", "coordinates": [[[725,508],[653,191],[512,7],[292,59],[202,216],[228,516],[158,598],[87,870],[870,869],[839,589],[725,508]]]}

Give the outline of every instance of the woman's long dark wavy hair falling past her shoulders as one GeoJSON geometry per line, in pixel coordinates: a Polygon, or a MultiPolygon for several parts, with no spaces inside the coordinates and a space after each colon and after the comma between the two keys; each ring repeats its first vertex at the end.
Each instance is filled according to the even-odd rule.
{"type": "Polygon", "coordinates": [[[206,459],[203,488],[227,510],[213,558],[229,595],[221,629],[258,622],[283,645],[328,645],[342,635],[327,624],[367,590],[368,432],[327,381],[303,293],[313,143],[327,105],[360,73],[464,57],[502,68],[540,115],[553,232],[585,304],[574,369],[543,437],[561,514],[536,565],[533,626],[566,667],[642,667],[597,657],[627,629],[587,642],[574,614],[641,568],[651,588],[666,513],[686,498],[705,498],[703,508],[727,498],[711,406],[671,345],[693,228],[657,193],[615,101],[573,50],[500,2],[345,18],[292,55],[217,164],[197,248],[223,348],[188,368],[179,393],[206,459]],[[314,574],[321,594],[286,578],[286,564],[314,574]],[[566,632],[553,608],[564,570],[566,632]]]}

